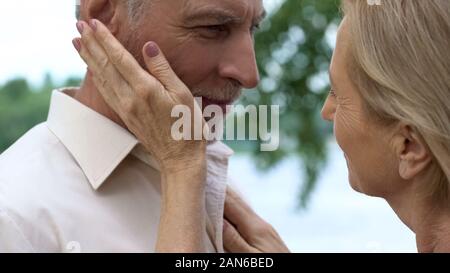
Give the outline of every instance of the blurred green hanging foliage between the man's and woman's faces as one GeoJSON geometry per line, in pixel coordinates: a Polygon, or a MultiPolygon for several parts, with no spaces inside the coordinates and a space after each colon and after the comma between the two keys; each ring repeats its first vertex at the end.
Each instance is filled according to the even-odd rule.
{"type": "Polygon", "coordinates": [[[301,157],[303,207],[326,162],[332,132],[320,111],[329,90],[332,55],[326,33],[339,20],[338,1],[286,0],[256,36],[261,84],[243,100],[244,104],[280,105],[280,149],[260,152],[259,145],[250,147],[263,170],[289,156],[301,157]]]}

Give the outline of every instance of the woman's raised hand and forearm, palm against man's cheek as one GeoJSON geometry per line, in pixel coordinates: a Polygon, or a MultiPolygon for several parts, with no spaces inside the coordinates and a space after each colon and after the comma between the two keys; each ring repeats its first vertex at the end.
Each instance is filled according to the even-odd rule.
{"type": "Polygon", "coordinates": [[[188,106],[192,120],[203,121],[191,124],[203,129],[203,117],[194,117],[201,115],[199,106],[155,43],[143,48],[145,71],[98,20],[77,27],[82,38],[73,42],[96,88],[161,167],[156,251],[203,252],[206,141],[176,141],[171,134],[171,112],[177,105],[188,106]]]}

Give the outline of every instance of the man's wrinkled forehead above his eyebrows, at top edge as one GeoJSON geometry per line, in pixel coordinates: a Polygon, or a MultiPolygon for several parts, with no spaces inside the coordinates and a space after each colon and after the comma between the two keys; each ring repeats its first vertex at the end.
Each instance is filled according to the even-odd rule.
{"type": "MultiPolygon", "coordinates": [[[[234,19],[261,21],[265,16],[262,0],[175,0],[182,1],[181,16],[186,20],[211,17],[214,19],[234,19]]],[[[223,21],[221,20],[221,21],[223,21]]],[[[239,22],[236,22],[239,23],[239,22]]]]}

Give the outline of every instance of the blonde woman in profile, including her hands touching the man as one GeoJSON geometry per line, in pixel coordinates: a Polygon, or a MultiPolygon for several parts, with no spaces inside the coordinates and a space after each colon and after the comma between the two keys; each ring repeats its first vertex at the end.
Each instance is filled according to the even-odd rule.
{"type": "MultiPolygon", "coordinates": [[[[330,67],[332,89],[322,115],[334,123],[337,142],[348,163],[350,184],[356,191],[386,199],[416,234],[419,252],[450,252],[450,1],[390,0],[369,5],[362,0],[344,0],[343,11],[345,17],[330,67]]],[[[104,26],[95,35],[83,35],[80,44],[89,47],[102,35],[107,35],[104,26]]],[[[104,48],[108,48],[108,43],[117,43],[111,35],[108,37],[97,43],[104,48]]],[[[104,87],[109,75],[95,69],[99,60],[83,46],[81,56],[104,87]]],[[[205,171],[202,154],[206,143],[156,138],[161,143],[155,144],[154,137],[146,137],[155,133],[149,127],[162,128],[169,122],[148,114],[155,112],[148,109],[170,111],[174,105],[190,101],[191,96],[156,44],[148,43],[145,49],[143,54],[153,76],[148,75],[139,86],[146,86],[153,95],[145,103],[136,103],[139,111],[134,111],[145,115],[123,111],[123,96],[113,96],[101,85],[98,87],[163,166],[168,161],[172,166],[180,163],[175,164],[180,166],[179,174],[163,180],[167,183],[165,198],[176,205],[168,202],[162,211],[158,250],[183,251],[173,240],[183,236],[168,223],[199,223],[202,217],[195,213],[201,204],[192,200],[202,200],[204,193],[201,183],[192,179],[201,179],[205,171]],[[161,90],[164,96],[158,95],[161,90]],[[168,146],[186,151],[186,156],[159,148],[168,146]],[[189,161],[192,154],[198,160],[189,161]],[[182,175],[186,162],[198,170],[196,177],[182,175]],[[197,187],[185,186],[190,183],[197,187]],[[185,198],[183,204],[173,201],[180,194],[177,187],[187,191],[185,194],[191,199],[185,198]]],[[[115,69],[124,69],[118,66],[115,69]]],[[[112,93],[117,92],[120,91],[112,93]]],[[[136,94],[128,92],[127,98],[130,93],[136,94]]],[[[142,102],[138,95],[132,96],[142,102]]],[[[165,133],[161,135],[167,136],[165,133]]],[[[231,191],[225,204],[225,219],[224,245],[228,251],[288,251],[273,228],[231,191]]],[[[195,246],[200,245],[200,238],[183,238],[185,246],[189,246],[184,250],[199,250],[195,246]]]]}

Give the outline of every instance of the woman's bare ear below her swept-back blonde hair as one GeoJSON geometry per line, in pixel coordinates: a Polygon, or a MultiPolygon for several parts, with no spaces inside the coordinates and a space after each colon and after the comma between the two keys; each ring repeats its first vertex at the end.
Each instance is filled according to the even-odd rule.
{"type": "Polygon", "coordinates": [[[403,179],[413,179],[431,163],[431,152],[425,140],[411,126],[400,124],[393,143],[399,161],[398,171],[403,179]]]}

